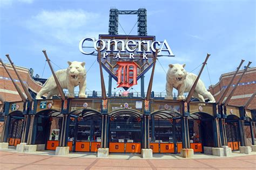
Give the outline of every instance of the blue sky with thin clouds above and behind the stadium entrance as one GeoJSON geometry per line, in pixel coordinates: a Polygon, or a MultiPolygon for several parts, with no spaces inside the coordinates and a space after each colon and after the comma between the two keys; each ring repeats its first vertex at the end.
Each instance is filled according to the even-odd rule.
{"type": "MultiPolygon", "coordinates": [[[[147,33],[157,40],[166,39],[176,55],[161,57],[159,61],[167,71],[170,63],[186,63],[190,72],[210,53],[208,70],[201,79],[206,87],[218,82],[223,73],[252,61],[255,67],[255,1],[39,1],[0,0],[0,54],[9,53],[18,66],[33,68],[42,76],[46,49],[49,58],[60,68],[67,61],[85,61],[86,69],[95,56],[79,52],[79,40],[108,33],[109,10],[147,10],[147,33]],[[72,3],[71,3],[72,2],[72,3]]],[[[125,32],[130,32],[137,16],[120,16],[125,32]]],[[[124,34],[119,27],[119,34],[124,34]]],[[[137,34],[137,26],[131,34],[137,34]]],[[[54,69],[59,69],[53,65],[54,69]]],[[[164,91],[166,74],[159,62],[156,65],[153,91],[164,91]]],[[[193,73],[197,74],[199,68],[193,73]]],[[[150,79],[145,75],[145,90],[150,79]]],[[[105,84],[107,89],[107,74],[105,84]]],[[[51,75],[46,65],[43,77],[51,75]]],[[[113,80],[112,88],[116,87],[113,80]]],[[[95,63],[87,73],[87,90],[100,91],[99,66],[95,63]]],[[[135,90],[140,91],[140,81],[135,90]]]]}

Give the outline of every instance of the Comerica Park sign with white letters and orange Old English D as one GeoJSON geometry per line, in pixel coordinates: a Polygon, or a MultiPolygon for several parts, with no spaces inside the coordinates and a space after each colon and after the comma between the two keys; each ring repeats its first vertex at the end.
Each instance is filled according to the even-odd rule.
{"type": "Polygon", "coordinates": [[[117,87],[124,89],[136,85],[152,67],[157,48],[157,56],[174,56],[168,42],[156,41],[154,36],[99,35],[99,39],[86,37],[79,42],[85,55],[97,55],[97,47],[101,65],[117,81],[117,87]]]}

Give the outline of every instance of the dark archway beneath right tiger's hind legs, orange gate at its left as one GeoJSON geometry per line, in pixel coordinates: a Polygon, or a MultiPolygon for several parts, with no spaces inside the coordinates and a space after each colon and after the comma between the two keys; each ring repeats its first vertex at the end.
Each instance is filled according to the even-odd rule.
{"type": "Polygon", "coordinates": [[[204,147],[214,147],[214,117],[206,112],[194,112],[188,117],[190,148],[204,152],[204,147]]]}

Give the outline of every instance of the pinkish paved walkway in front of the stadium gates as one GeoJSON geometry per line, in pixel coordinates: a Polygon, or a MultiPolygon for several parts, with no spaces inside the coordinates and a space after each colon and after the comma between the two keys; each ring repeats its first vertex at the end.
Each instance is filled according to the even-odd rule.
{"type": "Polygon", "coordinates": [[[203,159],[99,159],[0,151],[0,169],[256,169],[256,155],[203,159]]]}

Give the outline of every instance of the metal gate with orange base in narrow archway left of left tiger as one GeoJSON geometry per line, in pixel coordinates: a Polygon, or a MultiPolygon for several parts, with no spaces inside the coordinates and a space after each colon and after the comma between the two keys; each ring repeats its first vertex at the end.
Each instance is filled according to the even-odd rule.
{"type": "Polygon", "coordinates": [[[22,129],[24,119],[11,118],[11,127],[9,132],[9,145],[17,146],[21,143],[22,129]]]}

